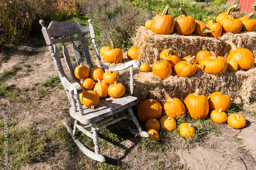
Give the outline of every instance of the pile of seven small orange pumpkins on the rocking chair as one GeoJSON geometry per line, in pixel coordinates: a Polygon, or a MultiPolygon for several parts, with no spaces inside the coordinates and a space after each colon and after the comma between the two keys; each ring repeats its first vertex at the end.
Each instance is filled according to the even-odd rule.
{"type": "Polygon", "coordinates": [[[125,93],[124,86],[117,83],[119,76],[116,71],[104,72],[100,67],[89,70],[86,65],[80,63],[74,74],[77,79],[83,80],[83,91],[79,94],[79,99],[88,108],[94,109],[99,104],[99,99],[105,98],[108,94],[112,98],[120,98],[125,93]]]}

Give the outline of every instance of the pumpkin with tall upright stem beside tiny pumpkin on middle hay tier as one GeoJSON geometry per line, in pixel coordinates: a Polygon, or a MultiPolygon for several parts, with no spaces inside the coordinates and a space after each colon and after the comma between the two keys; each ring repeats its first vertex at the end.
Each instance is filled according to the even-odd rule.
{"type": "Polygon", "coordinates": [[[162,61],[160,60],[160,57],[156,48],[154,48],[154,53],[158,61],[160,62],[153,63],[153,66],[152,66],[153,74],[164,80],[170,75],[172,75],[172,72],[173,72],[172,68],[170,67],[170,64],[167,60],[165,59],[163,59],[162,61]]]}

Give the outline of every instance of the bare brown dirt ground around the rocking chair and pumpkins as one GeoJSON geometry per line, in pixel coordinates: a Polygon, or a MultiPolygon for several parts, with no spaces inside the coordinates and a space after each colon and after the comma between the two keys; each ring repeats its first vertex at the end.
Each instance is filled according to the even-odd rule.
{"type": "MultiPolygon", "coordinates": [[[[64,90],[52,88],[48,94],[38,92],[41,82],[46,81],[49,76],[58,76],[47,46],[26,43],[3,50],[0,58],[4,56],[9,59],[1,61],[0,73],[13,67],[22,68],[17,71],[19,78],[9,79],[5,84],[27,89],[30,94],[23,96],[23,105],[11,103],[7,99],[0,100],[0,103],[9,108],[9,116],[15,119],[19,126],[25,127],[38,122],[38,130],[49,130],[73,121],[67,112],[70,104],[64,90]],[[28,71],[24,64],[31,65],[31,70],[28,71]]],[[[64,62],[64,59],[61,58],[61,61],[64,62]]],[[[256,103],[244,107],[255,110],[256,103]]],[[[103,151],[103,155],[126,163],[129,169],[173,169],[173,162],[181,164],[181,169],[256,169],[256,119],[245,112],[241,114],[247,120],[245,128],[236,130],[227,124],[212,122],[222,135],[209,133],[202,142],[195,143],[193,147],[178,150],[170,147],[161,153],[151,153],[139,150],[135,139],[126,138],[122,141],[126,149],[103,151]],[[234,140],[236,137],[242,140],[234,140]],[[158,160],[159,166],[156,166],[154,159],[158,160]],[[161,166],[161,162],[164,166],[161,166]]],[[[183,140],[181,139],[181,145],[183,140]]],[[[57,167],[60,168],[51,162],[38,162],[28,164],[23,169],[58,169],[57,167]]]]}

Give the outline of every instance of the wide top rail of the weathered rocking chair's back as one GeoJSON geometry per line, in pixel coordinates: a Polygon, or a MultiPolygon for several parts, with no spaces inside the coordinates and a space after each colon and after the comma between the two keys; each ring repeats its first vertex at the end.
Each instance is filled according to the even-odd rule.
{"type": "Polygon", "coordinates": [[[89,32],[89,27],[79,25],[79,23],[69,20],[65,22],[52,21],[48,27],[50,36],[65,36],[89,32]]]}

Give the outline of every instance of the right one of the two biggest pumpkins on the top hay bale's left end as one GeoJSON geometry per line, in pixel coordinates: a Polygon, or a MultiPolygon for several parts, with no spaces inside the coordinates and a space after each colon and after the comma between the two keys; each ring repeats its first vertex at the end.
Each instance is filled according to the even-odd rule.
{"type": "Polygon", "coordinates": [[[175,19],[174,32],[181,35],[190,35],[194,32],[196,27],[195,19],[187,15],[184,9],[180,8],[179,10],[182,15],[175,19]]]}

